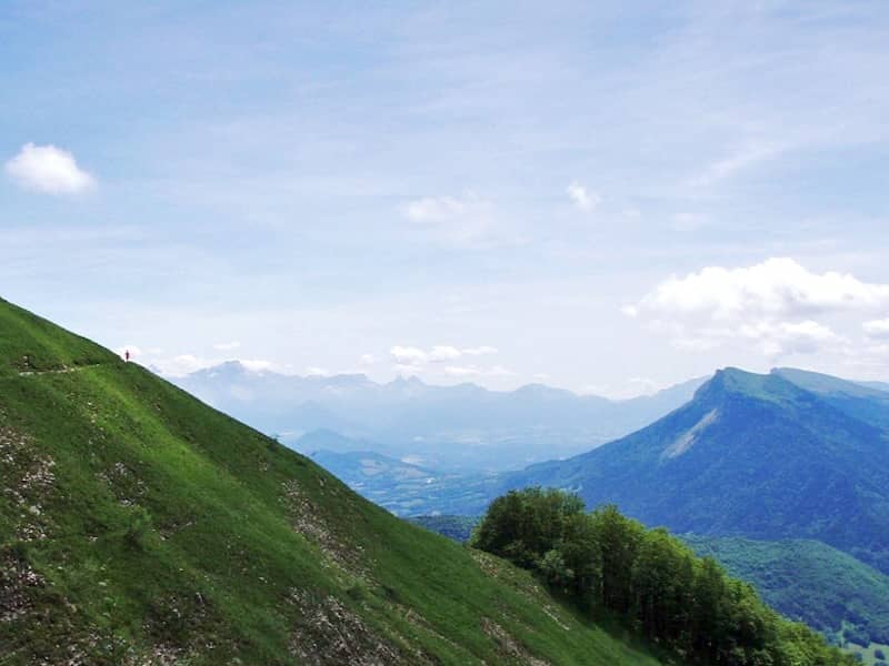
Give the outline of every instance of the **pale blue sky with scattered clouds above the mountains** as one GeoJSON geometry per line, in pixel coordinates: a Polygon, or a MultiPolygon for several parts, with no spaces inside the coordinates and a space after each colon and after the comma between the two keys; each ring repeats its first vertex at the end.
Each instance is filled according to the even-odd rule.
{"type": "Polygon", "coordinates": [[[0,3],[0,296],[171,375],[889,381],[889,6],[0,3]]]}

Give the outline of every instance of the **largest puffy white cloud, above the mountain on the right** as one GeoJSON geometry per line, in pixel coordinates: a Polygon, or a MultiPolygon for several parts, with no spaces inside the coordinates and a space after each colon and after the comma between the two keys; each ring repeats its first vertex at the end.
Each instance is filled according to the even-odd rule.
{"type": "Polygon", "coordinates": [[[721,322],[867,310],[889,304],[889,284],[861,282],[848,273],[817,274],[792,259],[769,259],[741,269],[708,266],[660,283],[639,312],[702,315],[721,322]]]}

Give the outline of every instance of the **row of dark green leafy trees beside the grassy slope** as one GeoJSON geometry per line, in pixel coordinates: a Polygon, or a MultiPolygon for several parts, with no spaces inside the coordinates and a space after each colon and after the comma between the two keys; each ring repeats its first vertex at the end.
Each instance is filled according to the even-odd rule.
{"type": "Polygon", "coordinates": [[[495,500],[473,547],[538,572],[580,606],[603,607],[685,662],[725,666],[856,664],[753,588],[697,557],[666,529],[615,506],[588,513],[576,495],[529,488],[495,500]]]}

